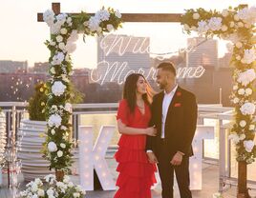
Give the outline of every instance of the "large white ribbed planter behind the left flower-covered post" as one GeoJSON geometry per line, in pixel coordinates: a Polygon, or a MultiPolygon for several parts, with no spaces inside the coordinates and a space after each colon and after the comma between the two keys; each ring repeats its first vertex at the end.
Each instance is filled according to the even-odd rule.
{"type": "MultiPolygon", "coordinates": [[[[23,119],[20,122],[20,128],[18,129],[18,158],[21,160],[21,172],[26,181],[32,181],[38,177],[43,178],[47,174],[54,173],[53,169],[49,169],[50,162],[42,157],[43,154],[41,152],[45,137],[40,137],[40,134],[45,134],[46,131],[47,123],[44,121],[23,119]]],[[[78,157],[77,149],[72,150],[72,153],[74,154],[73,160],[76,162],[78,157]]]]}

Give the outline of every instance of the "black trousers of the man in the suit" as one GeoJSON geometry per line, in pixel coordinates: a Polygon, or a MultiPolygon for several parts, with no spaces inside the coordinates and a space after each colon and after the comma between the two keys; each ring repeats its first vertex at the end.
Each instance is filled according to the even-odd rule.
{"type": "Polygon", "coordinates": [[[189,157],[183,156],[180,166],[172,166],[170,161],[173,155],[174,153],[170,153],[168,147],[162,142],[158,156],[158,168],[162,188],[161,196],[162,198],[173,198],[175,171],[181,198],[192,198],[189,189],[189,157]]]}

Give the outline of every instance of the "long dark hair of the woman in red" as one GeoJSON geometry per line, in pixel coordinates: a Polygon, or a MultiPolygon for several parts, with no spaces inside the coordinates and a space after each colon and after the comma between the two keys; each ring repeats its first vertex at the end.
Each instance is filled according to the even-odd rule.
{"type": "MultiPolygon", "coordinates": [[[[137,83],[139,80],[139,76],[143,77],[145,80],[145,77],[142,74],[132,73],[126,78],[123,86],[122,98],[126,99],[128,103],[128,107],[131,112],[135,111],[135,108],[137,105],[136,90],[137,90],[137,83]]],[[[146,103],[147,105],[150,105],[152,102],[154,91],[150,87],[147,81],[146,83],[147,83],[147,92],[142,95],[142,99],[144,103],[146,103]]]]}

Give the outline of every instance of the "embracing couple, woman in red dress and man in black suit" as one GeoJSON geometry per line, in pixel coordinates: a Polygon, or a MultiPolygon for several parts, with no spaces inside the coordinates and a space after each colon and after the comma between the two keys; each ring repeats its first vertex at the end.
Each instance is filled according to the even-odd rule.
{"type": "Polygon", "coordinates": [[[181,198],[192,197],[189,157],[197,125],[196,97],[178,86],[172,63],[160,63],[157,83],[161,91],[152,98],[143,75],[126,78],[117,110],[121,136],[115,155],[119,175],[114,198],[151,198],[157,167],[162,198],[173,198],[174,172],[181,198]]]}

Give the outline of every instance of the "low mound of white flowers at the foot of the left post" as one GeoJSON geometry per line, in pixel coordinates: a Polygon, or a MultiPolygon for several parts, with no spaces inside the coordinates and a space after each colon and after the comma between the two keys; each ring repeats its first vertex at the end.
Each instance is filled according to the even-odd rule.
{"type": "Polygon", "coordinates": [[[26,185],[26,189],[20,192],[20,198],[82,198],[85,190],[75,186],[70,178],[65,175],[63,182],[56,181],[53,174],[45,176],[46,185],[36,178],[26,185]]]}

